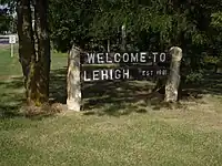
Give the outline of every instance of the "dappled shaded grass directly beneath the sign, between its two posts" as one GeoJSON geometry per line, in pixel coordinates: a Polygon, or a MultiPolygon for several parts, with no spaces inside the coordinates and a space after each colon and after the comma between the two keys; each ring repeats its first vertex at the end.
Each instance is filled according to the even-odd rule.
{"type": "MultiPolygon", "coordinates": [[[[147,112],[145,103],[151,89],[152,85],[149,83],[133,81],[85,83],[82,91],[83,110],[99,110],[102,114],[115,116],[147,112]]],[[[160,96],[157,96],[158,98],[160,96]]]]}

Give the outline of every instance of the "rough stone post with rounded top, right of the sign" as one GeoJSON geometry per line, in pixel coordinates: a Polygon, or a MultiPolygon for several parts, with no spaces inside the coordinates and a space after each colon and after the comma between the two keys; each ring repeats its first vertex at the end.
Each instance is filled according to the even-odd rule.
{"type": "Polygon", "coordinates": [[[170,65],[170,74],[165,84],[165,102],[178,101],[178,90],[180,85],[180,65],[182,59],[182,49],[173,46],[170,49],[172,56],[170,65]]]}

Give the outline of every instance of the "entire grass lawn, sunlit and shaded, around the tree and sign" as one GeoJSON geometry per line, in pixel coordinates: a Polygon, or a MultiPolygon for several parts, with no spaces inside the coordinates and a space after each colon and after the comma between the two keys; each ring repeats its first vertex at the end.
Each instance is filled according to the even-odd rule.
{"type": "MultiPolygon", "coordinates": [[[[65,54],[52,54],[51,97],[64,102],[65,54]]],[[[221,76],[222,77],[222,76],[221,76]]],[[[222,81],[200,100],[160,107],[150,83],[85,84],[85,113],[28,118],[18,56],[0,50],[0,166],[222,165],[222,81]]]]}

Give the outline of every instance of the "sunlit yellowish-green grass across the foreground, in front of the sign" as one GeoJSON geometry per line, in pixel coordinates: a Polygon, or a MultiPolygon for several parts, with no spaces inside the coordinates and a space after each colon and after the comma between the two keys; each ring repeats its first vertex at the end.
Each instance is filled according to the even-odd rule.
{"type": "Polygon", "coordinates": [[[3,120],[0,165],[220,165],[222,131],[214,123],[221,117],[211,116],[174,111],[3,120]],[[195,122],[196,115],[206,122],[195,122]]]}

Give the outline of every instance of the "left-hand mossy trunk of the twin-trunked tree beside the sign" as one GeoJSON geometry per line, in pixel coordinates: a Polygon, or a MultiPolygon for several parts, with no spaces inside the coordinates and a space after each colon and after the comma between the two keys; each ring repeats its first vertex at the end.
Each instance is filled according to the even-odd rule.
{"type": "Polygon", "coordinates": [[[31,23],[30,0],[18,1],[18,34],[19,60],[24,76],[27,102],[31,104],[36,98],[37,86],[34,82],[36,51],[31,23]]]}

